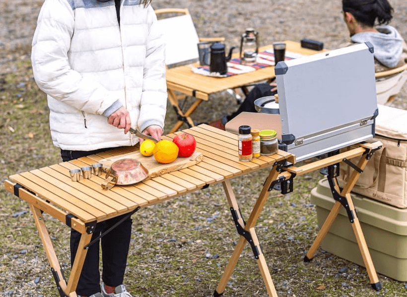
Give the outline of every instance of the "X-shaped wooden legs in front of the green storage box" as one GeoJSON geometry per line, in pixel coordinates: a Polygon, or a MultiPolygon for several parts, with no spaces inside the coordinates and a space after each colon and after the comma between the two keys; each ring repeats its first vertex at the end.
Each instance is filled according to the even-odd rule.
{"type": "Polygon", "coordinates": [[[363,262],[366,266],[367,273],[369,275],[370,283],[372,285],[372,288],[375,289],[376,291],[379,291],[381,289],[381,284],[379,282],[379,278],[377,277],[376,270],[373,265],[372,258],[370,256],[369,249],[366,244],[366,240],[363,236],[362,228],[360,227],[360,222],[359,219],[357,218],[355,207],[353,205],[353,200],[350,196],[350,192],[353,189],[354,185],[356,184],[357,179],[359,178],[360,174],[363,172],[363,169],[365,168],[367,162],[369,161],[369,158],[366,157],[366,154],[362,155],[360,158],[357,167],[353,168],[353,172],[349,177],[349,180],[347,181],[346,185],[343,187],[342,191],[340,191],[339,186],[335,180],[335,178],[332,176],[332,174],[328,175],[328,179],[330,182],[330,187],[333,193],[333,196],[336,200],[333,208],[331,209],[331,212],[329,213],[327,219],[325,220],[323,226],[321,227],[320,232],[317,235],[317,238],[315,239],[314,243],[312,244],[310,250],[307,252],[307,254],[304,257],[304,261],[310,261],[316,250],[318,249],[319,245],[321,244],[322,240],[325,238],[327,235],[329,229],[331,228],[332,224],[334,223],[335,218],[338,215],[340,205],[343,205],[344,208],[347,211],[349,221],[351,223],[353,233],[355,234],[357,244],[360,249],[360,253],[363,258],[363,262]],[[340,193],[340,194],[339,194],[340,193]]]}

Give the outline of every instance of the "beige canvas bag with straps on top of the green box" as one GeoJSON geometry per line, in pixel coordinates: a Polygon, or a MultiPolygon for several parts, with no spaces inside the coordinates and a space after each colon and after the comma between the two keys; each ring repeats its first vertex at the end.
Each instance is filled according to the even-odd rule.
{"type": "MultiPolygon", "coordinates": [[[[407,208],[407,110],[378,105],[375,140],[383,143],[367,163],[352,192],[407,208]]],[[[355,165],[357,158],[351,160],[355,165]]],[[[353,169],[341,163],[338,177],[343,187],[353,169]]]]}

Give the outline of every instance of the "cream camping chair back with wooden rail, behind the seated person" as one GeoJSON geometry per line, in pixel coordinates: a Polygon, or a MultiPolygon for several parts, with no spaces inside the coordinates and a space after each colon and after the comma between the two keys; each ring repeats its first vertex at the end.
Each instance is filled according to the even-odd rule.
{"type": "Polygon", "coordinates": [[[389,103],[396,97],[407,81],[407,64],[390,70],[377,72],[375,76],[377,103],[389,103]],[[390,77],[385,78],[387,76],[390,77]]]}

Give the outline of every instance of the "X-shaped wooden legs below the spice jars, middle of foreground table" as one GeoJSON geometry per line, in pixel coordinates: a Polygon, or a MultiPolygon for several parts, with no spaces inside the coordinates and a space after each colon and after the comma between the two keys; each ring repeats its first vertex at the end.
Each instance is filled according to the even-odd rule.
{"type": "Polygon", "coordinates": [[[271,183],[276,180],[280,172],[279,165],[281,164],[275,163],[273,168],[271,169],[270,174],[263,186],[262,192],[260,193],[260,196],[256,201],[256,204],[250,214],[249,221],[247,223],[245,223],[242,218],[241,211],[234,196],[230,181],[227,180],[222,183],[240,238],[223,272],[220,282],[216,287],[215,292],[213,293],[214,297],[218,297],[223,294],[223,291],[226,288],[226,284],[230,279],[230,276],[232,275],[233,269],[235,268],[237,261],[239,260],[239,256],[242,253],[243,247],[245,246],[246,242],[249,242],[252,246],[253,253],[255,255],[257,264],[259,265],[260,272],[262,274],[269,296],[277,297],[277,292],[275,291],[274,284],[271,280],[270,271],[267,267],[266,259],[261,249],[254,226],[269,196],[269,188],[271,186],[271,183]]]}

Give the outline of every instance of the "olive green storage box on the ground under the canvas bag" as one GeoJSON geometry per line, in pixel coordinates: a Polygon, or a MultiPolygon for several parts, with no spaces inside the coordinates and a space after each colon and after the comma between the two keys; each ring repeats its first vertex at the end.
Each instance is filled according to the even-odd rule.
{"type": "MultiPolygon", "coordinates": [[[[352,194],[352,198],[376,271],[398,281],[407,281],[407,208],[397,208],[356,194],[352,194]]],[[[335,203],[326,178],[312,189],[311,202],[316,205],[318,226],[321,228],[335,203]]],[[[321,247],[364,266],[343,207],[321,247]]]]}

